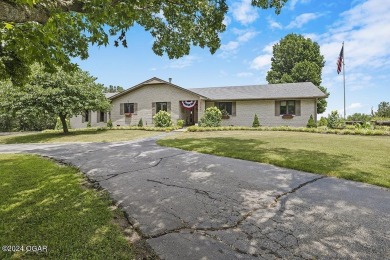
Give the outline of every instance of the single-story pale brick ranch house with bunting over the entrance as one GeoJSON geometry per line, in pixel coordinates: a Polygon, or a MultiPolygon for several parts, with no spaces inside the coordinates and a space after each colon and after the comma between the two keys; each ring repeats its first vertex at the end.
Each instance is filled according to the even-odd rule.
{"type": "Polygon", "coordinates": [[[317,99],[326,95],[311,82],[233,87],[185,89],[159,78],[151,78],[123,92],[107,95],[110,112],[86,111],[71,118],[72,128],[153,125],[153,116],[168,111],[173,122],[182,119],[186,125],[198,123],[206,108],[226,110],[222,125],[252,126],[257,114],[263,126],[306,126],[310,115],[316,119],[317,99]]]}

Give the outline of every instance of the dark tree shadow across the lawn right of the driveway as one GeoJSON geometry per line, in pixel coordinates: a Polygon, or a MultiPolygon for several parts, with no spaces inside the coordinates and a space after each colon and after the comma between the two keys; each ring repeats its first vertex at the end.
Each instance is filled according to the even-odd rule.
{"type": "MultiPolygon", "coordinates": [[[[350,164],[349,155],[288,148],[269,148],[269,142],[231,137],[159,140],[158,144],[206,154],[273,164],[289,169],[338,176],[350,164]]],[[[319,147],[320,149],[320,147],[319,147]]],[[[351,174],[352,175],[352,174],[351,174]]],[[[353,179],[353,176],[349,176],[353,179]]]]}

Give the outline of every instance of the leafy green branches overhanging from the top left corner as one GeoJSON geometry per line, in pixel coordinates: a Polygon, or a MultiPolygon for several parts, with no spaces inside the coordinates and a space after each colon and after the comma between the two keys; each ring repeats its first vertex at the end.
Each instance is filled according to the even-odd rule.
{"type": "MultiPolygon", "coordinates": [[[[252,0],[279,13],[287,0],[252,0]]],[[[154,38],[153,51],[169,58],[190,46],[214,53],[225,30],[225,0],[0,0],[0,79],[22,81],[34,62],[48,70],[74,66],[88,57],[88,44],[127,46],[126,32],[138,24],[154,38]]]]}

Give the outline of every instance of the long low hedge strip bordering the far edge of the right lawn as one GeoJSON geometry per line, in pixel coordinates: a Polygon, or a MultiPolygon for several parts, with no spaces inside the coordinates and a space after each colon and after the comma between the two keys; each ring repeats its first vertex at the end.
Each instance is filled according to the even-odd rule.
{"type": "Polygon", "coordinates": [[[390,136],[388,129],[330,129],[330,128],[306,128],[306,127],[247,127],[247,126],[221,126],[221,127],[198,127],[190,126],[189,132],[207,132],[207,131],[291,131],[308,132],[318,134],[339,134],[339,135],[384,135],[390,136]]]}

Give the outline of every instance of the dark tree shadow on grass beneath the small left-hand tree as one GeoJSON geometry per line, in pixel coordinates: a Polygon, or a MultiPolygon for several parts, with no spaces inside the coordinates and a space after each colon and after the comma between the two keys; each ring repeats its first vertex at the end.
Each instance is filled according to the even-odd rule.
{"type": "Polygon", "coordinates": [[[93,135],[93,134],[102,133],[104,131],[107,130],[77,131],[77,132],[69,132],[68,134],[64,134],[62,132],[61,133],[37,133],[37,134],[7,137],[3,141],[0,140],[0,143],[3,144],[46,143],[54,139],[57,139],[59,142],[61,142],[61,139],[69,138],[71,136],[93,135]]]}

